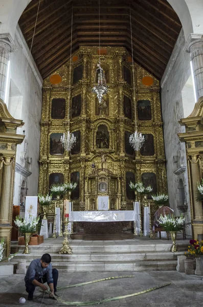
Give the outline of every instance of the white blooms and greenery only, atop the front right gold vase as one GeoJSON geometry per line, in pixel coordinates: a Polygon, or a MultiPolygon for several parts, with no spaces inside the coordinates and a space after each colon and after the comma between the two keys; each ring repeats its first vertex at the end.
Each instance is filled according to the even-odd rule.
{"type": "Polygon", "coordinates": [[[185,217],[175,217],[173,215],[160,215],[159,218],[160,226],[165,231],[179,231],[182,230],[185,224],[185,217]]]}

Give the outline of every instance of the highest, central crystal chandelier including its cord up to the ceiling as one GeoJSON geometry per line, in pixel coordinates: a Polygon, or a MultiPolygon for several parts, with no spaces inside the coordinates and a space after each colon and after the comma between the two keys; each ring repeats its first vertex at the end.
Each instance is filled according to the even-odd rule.
{"type": "Polygon", "coordinates": [[[98,69],[95,73],[95,86],[93,87],[93,93],[97,95],[99,100],[99,104],[102,102],[103,95],[105,95],[108,91],[105,80],[104,70],[101,68],[100,62],[100,0],[99,0],[99,64],[97,64],[98,69]],[[98,74],[98,82],[96,85],[96,76],[98,74]]]}

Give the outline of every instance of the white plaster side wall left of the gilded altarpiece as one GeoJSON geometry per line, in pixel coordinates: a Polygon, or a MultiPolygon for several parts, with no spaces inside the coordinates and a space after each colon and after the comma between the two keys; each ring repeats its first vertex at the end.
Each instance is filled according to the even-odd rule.
{"type": "Polygon", "coordinates": [[[19,205],[23,180],[27,178],[28,195],[37,195],[38,191],[42,79],[19,27],[14,42],[17,51],[10,55],[8,109],[14,118],[22,119],[25,123],[17,128],[18,134],[23,134],[25,130],[25,140],[17,145],[16,153],[18,172],[15,173],[13,204],[19,205]]]}

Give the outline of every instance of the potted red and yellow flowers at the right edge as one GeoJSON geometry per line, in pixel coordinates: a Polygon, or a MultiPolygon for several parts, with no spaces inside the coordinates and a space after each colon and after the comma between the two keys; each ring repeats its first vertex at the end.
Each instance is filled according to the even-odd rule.
{"type": "MultiPolygon", "coordinates": [[[[191,257],[195,257],[196,261],[196,269],[194,271],[194,261],[193,261],[193,268],[192,264],[190,265],[190,270],[193,269],[195,275],[203,275],[203,241],[198,242],[197,240],[191,239],[190,240],[190,245],[188,246],[188,252],[191,257]]],[[[187,254],[187,253],[186,253],[187,254]]],[[[188,259],[189,260],[189,259],[188,259]]],[[[193,259],[192,259],[193,260],[193,259]]],[[[189,266],[189,261],[186,261],[186,274],[187,273],[187,266],[189,266]]],[[[192,262],[192,261],[191,261],[192,262]]],[[[191,273],[189,273],[191,274],[191,273]]]]}

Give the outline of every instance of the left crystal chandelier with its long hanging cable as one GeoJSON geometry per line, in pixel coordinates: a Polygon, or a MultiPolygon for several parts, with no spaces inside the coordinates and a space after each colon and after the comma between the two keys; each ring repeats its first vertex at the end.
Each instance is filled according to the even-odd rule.
{"type": "Polygon", "coordinates": [[[70,54],[70,71],[69,71],[69,104],[68,104],[68,129],[60,141],[63,145],[64,149],[67,151],[71,151],[73,146],[76,143],[76,137],[70,132],[70,98],[71,98],[71,58],[72,58],[72,34],[73,34],[73,7],[72,7],[72,19],[71,19],[71,54],[70,54]]]}

